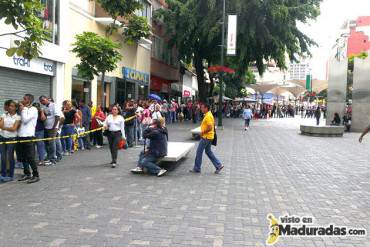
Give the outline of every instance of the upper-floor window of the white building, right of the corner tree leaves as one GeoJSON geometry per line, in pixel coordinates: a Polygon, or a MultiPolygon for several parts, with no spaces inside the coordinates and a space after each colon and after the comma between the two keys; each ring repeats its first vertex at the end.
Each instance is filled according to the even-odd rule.
{"type": "Polygon", "coordinates": [[[39,14],[47,32],[47,41],[59,44],[59,0],[41,0],[43,9],[39,14]]]}

